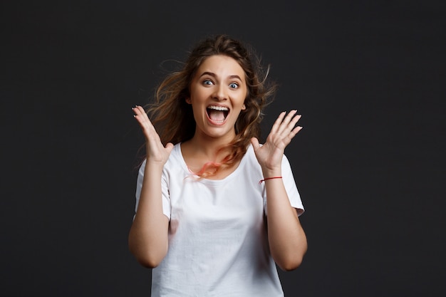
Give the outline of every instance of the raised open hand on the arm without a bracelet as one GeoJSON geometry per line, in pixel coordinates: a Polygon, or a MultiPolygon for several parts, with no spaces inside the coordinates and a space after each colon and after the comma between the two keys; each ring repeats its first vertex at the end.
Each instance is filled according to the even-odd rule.
{"type": "Polygon", "coordinates": [[[170,152],[172,152],[173,144],[169,142],[165,147],[162,145],[160,135],[156,132],[155,127],[153,127],[152,122],[150,122],[149,117],[142,106],[136,105],[132,110],[133,113],[135,113],[133,116],[140,124],[142,133],[144,133],[145,136],[146,162],[164,166],[169,158],[170,152]]]}

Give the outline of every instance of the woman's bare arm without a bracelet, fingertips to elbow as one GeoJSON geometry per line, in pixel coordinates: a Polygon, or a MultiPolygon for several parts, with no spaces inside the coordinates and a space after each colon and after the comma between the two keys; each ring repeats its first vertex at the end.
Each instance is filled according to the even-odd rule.
{"type": "Polygon", "coordinates": [[[172,143],[162,146],[160,137],[140,106],[133,108],[135,119],[146,138],[147,159],[140,202],[130,227],[128,245],[138,262],[147,268],[160,264],[167,254],[169,219],[162,212],[162,168],[172,151],[172,143]]]}

